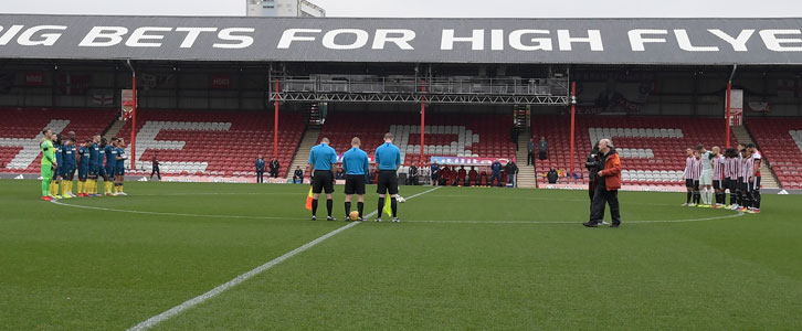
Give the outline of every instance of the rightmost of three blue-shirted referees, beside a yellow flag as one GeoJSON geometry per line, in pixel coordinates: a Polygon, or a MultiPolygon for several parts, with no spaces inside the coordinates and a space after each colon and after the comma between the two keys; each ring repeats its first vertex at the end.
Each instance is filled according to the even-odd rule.
{"type": "Polygon", "coordinates": [[[381,211],[384,209],[386,193],[390,193],[390,206],[392,207],[392,222],[401,222],[398,218],[398,167],[401,166],[401,150],[392,145],[393,136],[384,134],[384,143],[376,149],[376,163],[379,164],[379,181],[376,192],[379,193],[379,216],[376,222],[381,222],[381,211]]]}

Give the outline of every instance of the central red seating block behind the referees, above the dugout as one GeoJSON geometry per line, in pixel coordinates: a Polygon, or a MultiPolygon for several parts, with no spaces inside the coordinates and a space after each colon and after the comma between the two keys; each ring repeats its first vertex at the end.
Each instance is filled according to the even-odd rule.
{"type": "MultiPolygon", "coordinates": [[[[428,114],[423,162],[429,163],[432,156],[513,159],[515,143],[509,136],[513,125],[511,115],[428,114]]],[[[418,113],[330,113],[318,142],[328,137],[331,147],[342,153],[350,148],[351,137],[358,136],[363,149],[372,156],[388,131],[395,136],[403,164],[418,163],[421,158],[418,113]]]]}

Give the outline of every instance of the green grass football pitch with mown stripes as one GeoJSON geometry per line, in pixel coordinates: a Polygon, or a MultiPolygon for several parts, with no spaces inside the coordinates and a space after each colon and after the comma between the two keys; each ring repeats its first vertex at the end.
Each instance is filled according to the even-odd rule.
{"type": "MultiPolygon", "coordinates": [[[[348,224],[309,221],[306,185],[129,183],[68,205],[39,188],[0,182],[0,329],[124,330],[348,224]]],[[[802,329],[800,196],[740,216],[621,201],[621,228],[585,228],[585,192],[439,189],[154,330],[802,329]]]]}

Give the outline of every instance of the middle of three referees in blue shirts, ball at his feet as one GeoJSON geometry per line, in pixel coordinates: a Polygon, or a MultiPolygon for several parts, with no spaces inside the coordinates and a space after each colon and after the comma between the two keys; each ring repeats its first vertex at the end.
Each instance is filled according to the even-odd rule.
{"type": "Polygon", "coordinates": [[[350,221],[349,215],[351,214],[351,197],[357,194],[357,211],[359,211],[359,218],[357,221],[362,222],[362,211],[365,210],[365,178],[368,173],[370,163],[368,161],[368,153],[359,149],[361,140],[359,137],[351,139],[351,149],[342,154],[342,169],[346,171],[346,221],[350,221]]]}

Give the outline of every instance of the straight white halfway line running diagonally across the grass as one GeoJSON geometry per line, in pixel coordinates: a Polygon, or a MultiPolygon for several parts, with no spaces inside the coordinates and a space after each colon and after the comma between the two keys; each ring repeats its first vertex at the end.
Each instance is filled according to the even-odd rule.
{"type": "MultiPolygon", "coordinates": [[[[411,195],[411,196],[409,196],[407,199],[408,200],[409,199],[413,199],[415,196],[420,196],[420,195],[426,194],[426,193],[432,192],[432,191],[437,190],[437,189],[440,189],[440,188],[437,186],[437,188],[434,188],[434,189],[430,189],[430,190],[423,191],[421,193],[411,195]]],[[[367,217],[370,217],[372,215],[376,215],[377,212],[379,212],[379,211],[377,210],[377,211],[371,212],[370,214],[366,215],[366,218],[367,217]]],[[[203,301],[207,301],[207,300],[209,300],[211,298],[214,298],[218,295],[220,295],[220,293],[229,290],[230,288],[232,288],[234,286],[238,286],[238,285],[242,284],[243,281],[245,281],[247,279],[251,279],[254,276],[256,276],[258,274],[262,274],[262,273],[264,273],[265,270],[267,270],[270,268],[273,268],[275,265],[277,265],[277,264],[279,264],[279,263],[282,263],[282,261],[284,261],[284,260],[286,260],[286,259],[288,259],[288,258],[291,258],[291,257],[293,257],[293,256],[295,256],[295,255],[297,255],[297,254],[299,254],[299,253],[302,253],[304,250],[307,250],[307,249],[314,247],[315,245],[317,245],[317,244],[319,244],[319,243],[321,243],[321,242],[324,242],[324,241],[333,237],[334,235],[336,235],[336,234],[338,234],[340,232],[344,232],[346,229],[349,229],[349,228],[351,228],[353,226],[359,225],[360,223],[361,222],[353,222],[353,223],[348,223],[348,225],[338,227],[337,229],[331,231],[331,232],[329,232],[329,233],[327,233],[327,234],[318,237],[317,239],[314,239],[314,241],[312,241],[309,243],[306,243],[303,246],[300,246],[298,248],[295,248],[295,249],[293,249],[293,250],[291,250],[291,252],[282,255],[282,256],[279,256],[279,257],[276,257],[275,259],[273,259],[273,260],[271,260],[271,261],[268,261],[268,263],[266,263],[264,265],[261,265],[261,266],[252,269],[251,271],[247,271],[245,274],[242,274],[240,276],[236,276],[234,279],[231,279],[231,280],[229,280],[229,281],[226,281],[226,282],[224,282],[224,284],[222,284],[222,285],[220,285],[220,286],[218,286],[218,287],[215,287],[215,288],[213,288],[211,290],[209,290],[205,293],[202,293],[202,295],[200,295],[198,297],[194,297],[192,299],[189,299],[187,301],[183,301],[181,305],[178,305],[178,306],[176,306],[173,308],[170,308],[169,310],[166,310],[162,313],[159,313],[157,316],[154,316],[154,317],[151,317],[151,318],[149,318],[149,319],[140,322],[139,324],[136,324],[136,325],[131,327],[128,330],[129,331],[135,331],[135,330],[147,330],[147,329],[150,329],[154,325],[156,325],[156,324],[158,324],[158,323],[160,323],[162,321],[166,321],[166,320],[168,320],[168,319],[170,319],[170,318],[172,318],[172,317],[181,313],[182,311],[184,311],[187,309],[190,309],[190,308],[192,308],[194,306],[198,306],[198,305],[202,303],[203,301]]]]}

